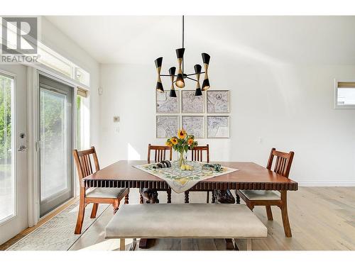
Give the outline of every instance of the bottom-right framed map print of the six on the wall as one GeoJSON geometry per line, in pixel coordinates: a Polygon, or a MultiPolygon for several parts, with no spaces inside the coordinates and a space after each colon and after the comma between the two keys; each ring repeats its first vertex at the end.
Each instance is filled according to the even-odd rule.
{"type": "Polygon", "coordinates": [[[207,138],[229,138],[229,116],[207,116],[207,138]]]}

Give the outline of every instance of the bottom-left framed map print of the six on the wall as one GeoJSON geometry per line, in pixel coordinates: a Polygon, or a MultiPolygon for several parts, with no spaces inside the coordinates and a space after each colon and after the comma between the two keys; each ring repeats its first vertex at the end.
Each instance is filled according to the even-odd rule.
{"type": "Polygon", "coordinates": [[[156,116],[156,137],[170,138],[178,134],[179,116],[156,116]]]}

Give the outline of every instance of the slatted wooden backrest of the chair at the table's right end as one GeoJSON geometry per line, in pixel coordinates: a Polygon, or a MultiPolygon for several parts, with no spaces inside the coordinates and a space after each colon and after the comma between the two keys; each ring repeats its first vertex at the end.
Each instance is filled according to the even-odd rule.
{"type": "Polygon", "coordinates": [[[292,151],[290,153],[283,153],[276,150],[275,148],[272,148],[270,157],[268,158],[268,165],[266,166],[266,168],[268,168],[268,170],[271,170],[271,168],[273,167],[273,158],[276,157],[273,172],[281,174],[284,177],[288,177],[288,175],[290,174],[294,155],[295,153],[292,151]]]}

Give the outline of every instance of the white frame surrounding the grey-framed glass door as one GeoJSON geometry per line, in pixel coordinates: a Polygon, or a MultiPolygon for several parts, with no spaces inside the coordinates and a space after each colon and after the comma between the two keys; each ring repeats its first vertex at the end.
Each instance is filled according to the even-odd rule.
{"type": "MultiPolygon", "coordinates": [[[[75,97],[77,95],[77,84],[70,79],[65,79],[61,75],[56,75],[53,72],[38,70],[34,67],[28,67],[28,226],[35,226],[38,221],[50,215],[53,211],[50,211],[45,216],[40,217],[40,157],[38,153],[38,140],[40,139],[39,132],[39,76],[43,75],[50,79],[54,79],[57,82],[66,84],[73,89],[72,92],[72,147],[75,148],[76,143],[76,114],[77,103],[75,97]]],[[[78,181],[75,178],[75,165],[72,159],[72,184],[73,184],[73,198],[77,195],[75,187],[77,187],[78,181]]],[[[70,200],[70,199],[69,199],[70,200]]],[[[65,204],[65,203],[64,203],[65,204]]],[[[63,204],[62,204],[63,205],[63,204]]],[[[62,206],[61,205],[61,206],[62,206]]]]}

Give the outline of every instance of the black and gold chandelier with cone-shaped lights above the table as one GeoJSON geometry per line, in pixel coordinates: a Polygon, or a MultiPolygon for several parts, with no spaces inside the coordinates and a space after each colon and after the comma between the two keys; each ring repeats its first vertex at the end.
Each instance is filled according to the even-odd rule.
{"type": "Polygon", "coordinates": [[[209,89],[209,79],[208,79],[208,65],[209,65],[209,55],[205,52],[202,52],[202,62],[204,64],[204,72],[201,72],[201,65],[195,65],[195,73],[185,74],[184,72],[184,36],[185,35],[185,19],[182,16],[182,48],[176,49],[176,57],[178,57],[178,74],[175,75],[176,67],[170,67],[169,74],[160,74],[161,66],[163,64],[163,57],[159,57],[155,60],[155,67],[158,72],[158,78],[156,82],[156,90],[158,92],[164,92],[163,83],[161,82],[160,77],[170,77],[171,87],[170,87],[170,97],[176,97],[175,86],[182,89],[185,87],[185,79],[191,79],[196,82],[196,91],[195,96],[202,96],[202,91],[209,89]],[[202,89],[200,86],[200,75],[204,74],[204,79],[202,82],[202,89]],[[193,79],[190,76],[196,75],[196,79],[193,79]],[[176,77],[176,79],[175,79],[176,77]]]}

